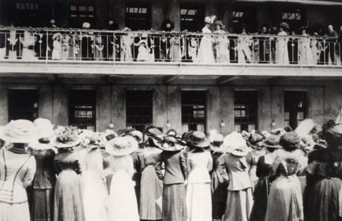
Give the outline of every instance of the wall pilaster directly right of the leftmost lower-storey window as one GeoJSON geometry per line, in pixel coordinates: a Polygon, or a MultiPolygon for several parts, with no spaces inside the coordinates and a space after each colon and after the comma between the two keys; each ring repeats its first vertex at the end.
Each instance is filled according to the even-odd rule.
{"type": "Polygon", "coordinates": [[[53,120],[53,88],[52,86],[44,85],[38,88],[38,116],[53,120]]]}

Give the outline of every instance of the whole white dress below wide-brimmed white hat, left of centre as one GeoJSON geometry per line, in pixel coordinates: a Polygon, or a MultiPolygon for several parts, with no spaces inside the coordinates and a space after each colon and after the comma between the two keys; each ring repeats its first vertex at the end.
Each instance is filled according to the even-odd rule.
{"type": "Polygon", "coordinates": [[[135,196],[133,160],[130,155],[111,159],[113,177],[110,184],[110,221],[139,221],[138,203],[135,196]]]}

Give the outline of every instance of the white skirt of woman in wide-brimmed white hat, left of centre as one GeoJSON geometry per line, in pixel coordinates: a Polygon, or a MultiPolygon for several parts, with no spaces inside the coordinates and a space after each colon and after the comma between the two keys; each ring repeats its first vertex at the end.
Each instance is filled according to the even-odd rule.
{"type": "Polygon", "coordinates": [[[134,183],[125,171],[113,173],[109,200],[110,221],[139,221],[134,183]]]}

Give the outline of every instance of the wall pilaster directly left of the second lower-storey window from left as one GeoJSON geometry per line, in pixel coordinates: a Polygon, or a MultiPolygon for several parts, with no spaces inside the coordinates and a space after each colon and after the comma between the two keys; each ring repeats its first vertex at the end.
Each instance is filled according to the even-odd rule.
{"type": "Polygon", "coordinates": [[[68,88],[58,85],[53,86],[53,113],[52,119],[55,125],[69,125],[68,118],[68,88]]]}

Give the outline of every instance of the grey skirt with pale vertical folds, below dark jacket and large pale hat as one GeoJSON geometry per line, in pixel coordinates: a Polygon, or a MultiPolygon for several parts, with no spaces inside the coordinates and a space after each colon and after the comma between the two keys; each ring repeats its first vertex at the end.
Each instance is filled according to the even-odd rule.
{"type": "Polygon", "coordinates": [[[235,191],[228,190],[227,209],[224,213],[224,221],[248,221],[252,205],[252,188],[235,191]]]}

